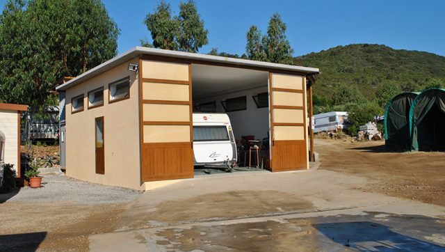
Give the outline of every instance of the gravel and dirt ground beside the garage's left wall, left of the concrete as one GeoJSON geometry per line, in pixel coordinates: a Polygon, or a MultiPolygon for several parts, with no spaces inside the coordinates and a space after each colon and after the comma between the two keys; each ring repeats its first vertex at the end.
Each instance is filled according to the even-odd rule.
{"type": "Polygon", "coordinates": [[[88,251],[140,192],[43,175],[43,187],[0,194],[0,251],[88,251]]]}

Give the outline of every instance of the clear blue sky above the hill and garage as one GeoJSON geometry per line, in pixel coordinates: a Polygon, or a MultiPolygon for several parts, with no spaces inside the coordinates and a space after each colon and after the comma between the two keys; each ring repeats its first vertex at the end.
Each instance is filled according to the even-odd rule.
{"type": "MultiPolygon", "coordinates": [[[[158,0],[102,1],[120,28],[120,53],[139,45],[140,38],[151,40],[143,19],[158,0]]],[[[167,0],[175,13],[179,1],[167,0]]],[[[209,30],[209,45],[202,47],[201,53],[218,47],[220,52],[243,54],[249,27],[255,24],[265,33],[270,15],[277,12],[287,24],[286,34],[295,56],[353,43],[385,44],[445,56],[443,0],[195,2],[209,30]]]]}

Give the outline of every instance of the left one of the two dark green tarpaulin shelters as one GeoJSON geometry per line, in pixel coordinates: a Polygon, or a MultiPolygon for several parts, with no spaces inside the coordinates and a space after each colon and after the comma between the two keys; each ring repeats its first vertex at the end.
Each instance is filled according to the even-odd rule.
{"type": "Polygon", "coordinates": [[[389,150],[410,150],[410,109],[419,93],[401,93],[385,108],[385,146],[389,150]]]}

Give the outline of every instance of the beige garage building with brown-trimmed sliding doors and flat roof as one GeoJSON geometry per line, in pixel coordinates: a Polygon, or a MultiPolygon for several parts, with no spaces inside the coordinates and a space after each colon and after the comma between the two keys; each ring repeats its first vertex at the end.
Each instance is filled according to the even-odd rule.
{"type": "Polygon", "coordinates": [[[270,171],[307,169],[314,74],[133,47],[56,88],[65,95],[66,173],[142,190],[193,178],[194,111],[227,113],[236,139],[270,136],[270,171]]]}

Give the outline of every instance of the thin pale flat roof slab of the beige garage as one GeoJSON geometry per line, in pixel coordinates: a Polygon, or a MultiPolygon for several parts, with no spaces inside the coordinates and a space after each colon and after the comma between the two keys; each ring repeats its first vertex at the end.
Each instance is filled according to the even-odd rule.
{"type": "Polygon", "coordinates": [[[193,54],[190,52],[177,52],[177,51],[170,51],[165,49],[157,49],[157,48],[149,48],[149,47],[133,47],[129,49],[127,52],[124,52],[123,54],[120,54],[118,56],[115,56],[114,58],[111,58],[110,60],[97,65],[97,67],[92,68],[91,70],[88,70],[84,72],[83,74],[80,74],[79,76],[75,77],[74,79],[71,79],[70,81],[65,82],[65,84],[62,84],[58,87],[56,87],[56,90],[67,90],[68,88],[72,88],[73,86],[76,86],[76,84],[79,84],[83,81],[86,81],[92,77],[95,77],[99,74],[102,74],[103,72],[106,72],[107,70],[110,70],[111,68],[115,68],[118,65],[121,65],[132,58],[136,58],[141,55],[156,55],[156,56],[167,56],[172,58],[186,58],[191,60],[198,60],[203,62],[211,62],[211,63],[225,63],[227,66],[229,65],[243,65],[246,67],[252,67],[252,68],[266,68],[270,70],[286,70],[290,72],[303,72],[305,74],[318,74],[320,71],[318,68],[307,68],[307,67],[301,67],[297,65],[284,65],[284,64],[277,64],[277,63],[270,63],[270,62],[262,62],[262,61],[250,61],[247,59],[241,59],[241,58],[228,58],[228,57],[222,57],[222,56],[213,56],[208,54],[193,54]]]}

